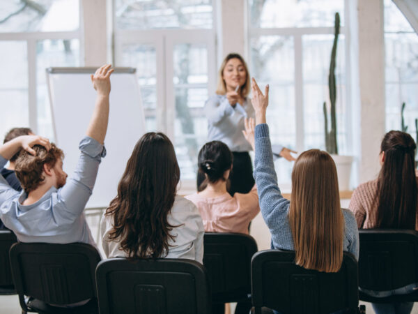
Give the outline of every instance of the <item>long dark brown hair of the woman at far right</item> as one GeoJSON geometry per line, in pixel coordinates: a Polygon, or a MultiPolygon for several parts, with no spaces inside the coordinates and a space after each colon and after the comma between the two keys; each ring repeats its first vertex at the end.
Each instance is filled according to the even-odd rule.
{"type": "Polygon", "coordinates": [[[415,229],[417,220],[416,144],[411,135],[391,130],[383,137],[385,153],[378,177],[376,227],[415,229]]]}

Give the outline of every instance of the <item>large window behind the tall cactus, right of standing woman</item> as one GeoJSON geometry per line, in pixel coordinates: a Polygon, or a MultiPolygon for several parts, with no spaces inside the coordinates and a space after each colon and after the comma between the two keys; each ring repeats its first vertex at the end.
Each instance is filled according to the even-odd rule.
{"type": "MultiPolygon", "coordinates": [[[[334,15],[341,28],[336,53],[336,119],[339,154],[350,154],[346,93],[346,10],[343,0],[249,0],[251,75],[270,84],[272,142],[304,151],[325,149],[323,103],[330,106],[328,73],[334,15]]],[[[292,163],[277,160],[280,182],[291,181],[292,163]]]]}

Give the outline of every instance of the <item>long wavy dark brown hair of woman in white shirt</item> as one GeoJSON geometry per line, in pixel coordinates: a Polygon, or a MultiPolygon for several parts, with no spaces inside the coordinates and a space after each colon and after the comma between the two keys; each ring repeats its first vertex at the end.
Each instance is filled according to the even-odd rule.
{"type": "Polygon", "coordinates": [[[164,257],[169,251],[173,226],[167,216],[180,180],[173,144],[163,133],[142,136],[127,161],[118,195],[106,215],[114,229],[109,239],[120,241],[130,258],[164,257]]]}

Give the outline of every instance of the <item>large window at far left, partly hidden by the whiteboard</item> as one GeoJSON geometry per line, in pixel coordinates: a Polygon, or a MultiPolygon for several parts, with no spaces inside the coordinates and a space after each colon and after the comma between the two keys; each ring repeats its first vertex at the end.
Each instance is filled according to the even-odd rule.
{"type": "Polygon", "coordinates": [[[0,138],[30,126],[53,139],[45,68],[79,66],[79,0],[0,2],[0,138]]]}

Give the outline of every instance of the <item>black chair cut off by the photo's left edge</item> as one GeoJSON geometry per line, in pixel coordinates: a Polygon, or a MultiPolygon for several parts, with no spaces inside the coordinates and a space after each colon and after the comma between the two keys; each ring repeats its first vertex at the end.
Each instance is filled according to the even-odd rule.
{"type": "Polygon", "coordinates": [[[13,232],[0,230],[0,295],[16,294],[9,260],[10,246],[16,242],[13,232]]]}

